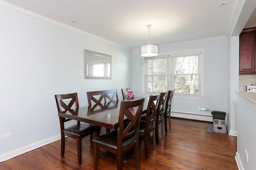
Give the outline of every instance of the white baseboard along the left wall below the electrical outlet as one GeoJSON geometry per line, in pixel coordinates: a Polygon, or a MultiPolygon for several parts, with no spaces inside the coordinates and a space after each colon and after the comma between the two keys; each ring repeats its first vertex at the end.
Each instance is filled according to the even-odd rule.
{"type": "Polygon", "coordinates": [[[60,134],[56,135],[56,136],[52,136],[50,138],[46,138],[44,140],[40,140],[38,142],[23,146],[21,148],[12,150],[10,152],[6,152],[4,154],[0,154],[0,162],[4,162],[8,159],[14,158],[16,156],[19,156],[21,154],[24,154],[26,152],[29,152],[31,150],[34,150],[36,148],[40,148],[42,146],[45,146],[47,144],[50,144],[52,142],[55,142],[57,140],[60,140],[60,134]]]}

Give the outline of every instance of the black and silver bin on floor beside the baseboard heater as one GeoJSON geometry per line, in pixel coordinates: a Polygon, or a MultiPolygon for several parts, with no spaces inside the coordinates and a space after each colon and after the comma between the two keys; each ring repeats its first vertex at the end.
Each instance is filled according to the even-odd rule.
{"type": "Polygon", "coordinates": [[[226,114],[226,112],[212,111],[212,132],[227,134],[227,127],[225,121],[226,114]]]}

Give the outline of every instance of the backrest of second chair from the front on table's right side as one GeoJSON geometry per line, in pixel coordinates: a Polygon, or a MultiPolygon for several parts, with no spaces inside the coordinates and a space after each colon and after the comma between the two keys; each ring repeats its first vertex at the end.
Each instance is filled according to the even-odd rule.
{"type": "Polygon", "coordinates": [[[158,113],[158,107],[159,107],[159,98],[160,98],[160,94],[158,95],[150,95],[149,99],[148,99],[148,107],[147,107],[147,111],[146,111],[146,118],[145,118],[145,131],[148,130],[148,125],[150,125],[150,123],[154,123],[154,121],[156,121],[156,115],[158,113]]]}

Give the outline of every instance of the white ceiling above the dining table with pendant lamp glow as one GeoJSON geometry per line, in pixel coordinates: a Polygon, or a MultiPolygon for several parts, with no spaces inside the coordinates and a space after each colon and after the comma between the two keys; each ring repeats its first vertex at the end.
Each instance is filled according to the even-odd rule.
{"type": "MultiPolygon", "coordinates": [[[[228,36],[238,0],[1,0],[129,49],[228,36]],[[70,22],[75,20],[76,23],[70,22]]],[[[255,14],[254,10],[254,15],[255,14]]],[[[256,19],[247,26],[256,26],[256,19]]]]}

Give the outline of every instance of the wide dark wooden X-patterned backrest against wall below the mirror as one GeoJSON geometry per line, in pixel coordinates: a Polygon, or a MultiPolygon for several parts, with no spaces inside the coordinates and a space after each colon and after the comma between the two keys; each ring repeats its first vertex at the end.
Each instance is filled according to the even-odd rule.
{"type": "Polygon", "coordinates": [[[92,105],[92,101],[94,101],[96,104],[99,104],[101,103],[102,99],[104,99],[104,103],[107,102],[107,99],[109,99],[109,101],[113,101],[115,99],[118,100],[117,89],[102,90],[102,91],[88,91],[87,99],[88,99],[89,106],[92,105]],[[98,98],[96,96],[98,96],[98,98]]]}

